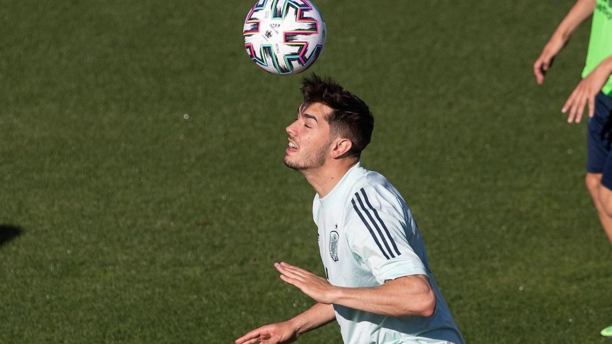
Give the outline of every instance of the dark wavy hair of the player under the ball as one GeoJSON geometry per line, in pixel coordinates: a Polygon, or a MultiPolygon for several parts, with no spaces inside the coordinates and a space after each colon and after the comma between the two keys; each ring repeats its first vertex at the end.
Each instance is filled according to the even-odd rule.
{"type": "Polygon", "coordinates": [[[347,156],[360,157],[361,151],[370,143],[374,129],[374,116],[368,105],[332,78],[321,78],[315,73],[302,79],[301,91],[304,95],[302,107],[323,103],[333,109],[326,116],[330,135],[351,140],[353,145],[347,156]]]}

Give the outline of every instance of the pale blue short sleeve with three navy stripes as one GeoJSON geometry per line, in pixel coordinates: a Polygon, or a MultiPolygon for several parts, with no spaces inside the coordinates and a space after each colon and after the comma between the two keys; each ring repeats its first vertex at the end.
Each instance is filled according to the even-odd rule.
{"type": "Polygon", "coordinates": [[[406,237],[411,233],[406,231],[404,214],[408,212],[399,212],[397,204],[400,203],[392,204],[379,193],[360,189],[353,195],[345,217],[349,247],[381,285],[403,276],[427,275],[424,263],[406,237]]]}

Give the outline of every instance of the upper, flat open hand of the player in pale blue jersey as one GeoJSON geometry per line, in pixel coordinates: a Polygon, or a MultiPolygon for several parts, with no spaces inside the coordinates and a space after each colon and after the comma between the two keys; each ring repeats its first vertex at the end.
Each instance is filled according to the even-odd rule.
{"type": "Polygon", "coordinates": [[[321,304],[334,303],[334,291],[338,287],[331,285],[323,277],[287,263],[275,263],[274,267],[280,272],[280,279],[297,286],[304,294],[312,297],[316,302],[321,304]]]}

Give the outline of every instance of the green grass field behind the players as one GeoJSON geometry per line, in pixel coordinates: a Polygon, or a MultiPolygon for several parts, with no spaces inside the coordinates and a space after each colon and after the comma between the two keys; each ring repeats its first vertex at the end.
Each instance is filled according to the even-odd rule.
{"type": "MultiPolygon", "coordinates": [[[[313,190],[282,163],[301,75],[242,46],[254,0],[0,1],[0,342],[231,343],[312,305],[313,190]]],[[[364,166],[411,206],[468,343],[605,343],[612,247],[544,86],[573,1],[316,0],[313,72],[373,109],[364,166]]],[[[341,343],[335,325],[298,343],[341,343]]]]}

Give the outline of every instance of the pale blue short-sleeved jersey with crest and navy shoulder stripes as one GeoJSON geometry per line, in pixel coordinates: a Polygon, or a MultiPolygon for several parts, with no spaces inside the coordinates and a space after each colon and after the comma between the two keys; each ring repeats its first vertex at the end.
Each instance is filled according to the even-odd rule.
{"type": "Polygon", "coordinates": [[[416,222],[382,174],[353,166],[324,198],[313,218],[327,279],[347,288],[376,287],[407,275],[426,275],[436,294],[430,317],[391,316],[334,305],[346,344],[463,343],[427,263],[416,222]]]}

